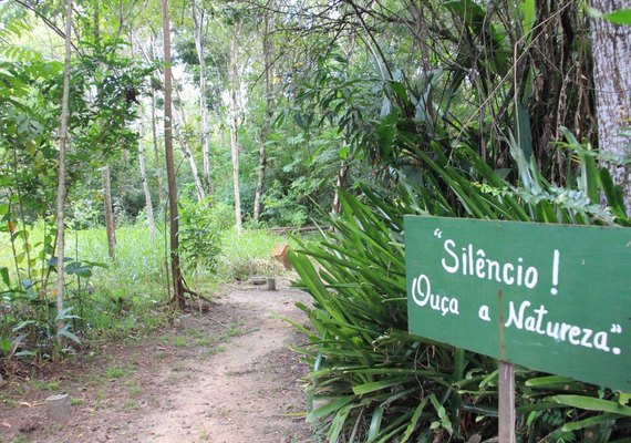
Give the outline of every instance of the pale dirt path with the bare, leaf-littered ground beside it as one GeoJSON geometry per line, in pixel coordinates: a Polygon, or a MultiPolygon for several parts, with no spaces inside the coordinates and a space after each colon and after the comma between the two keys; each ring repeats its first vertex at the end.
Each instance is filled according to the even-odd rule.
{"type": "Polygon", "coordinates": [[[281,317],[308,296],[235,284],[205,312],[187,312],[148,338],[105,343],[31,380],[0,389],[0,443],[312,442],[290,346],[302,340],[281,317]],[[68,423],[46,416],[45,399],[71,398],[68,423]]]}

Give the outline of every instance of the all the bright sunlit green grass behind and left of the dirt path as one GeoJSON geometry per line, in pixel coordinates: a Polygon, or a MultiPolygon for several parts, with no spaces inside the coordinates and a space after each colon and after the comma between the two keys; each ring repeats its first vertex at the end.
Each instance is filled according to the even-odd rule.
{"type": "MultiPolygon", "coordinates": [[[[29,228],[33,257],[39,254],[35,244],[41,241],[43,235],[42,223],[29,228]]],[[[103,227],[66,233],[66,258],[94,264],[90,278],[79,279],[75,275],[66,275],[65,305],[72,307],[72,315],[81,317],[72,320],[72,327],[83,343],[107,340],[137,341],[146,332],[166,326],[168,310],[164,308],[167,301],[164,235],[164,230],[158,229],[157,238],[152,239],[145,226],[118,227],[116,260],[111,260],[103,227]]],[[[227,229],[221,234],[221,254],[217,269],[198,269],[195,276],[187,276],[187,281],[194,290],[211,297],[223,281],[248,279],[252,275],[281,275],[285,270],[271,258],[271,253],[275,245],[288,243],[293,246],[292,240],[271,235],[267,230],[251,229],[237,235],[234,229],[227,229]]],[[[22,251],[21,244],[20,239],[15,241],[18,254],[22,251]]],[[[44,265],[38,265],[40,275],[46,269],[44,265]]],[[[0,233],[0,267],[9,269],[14,284],[17,272],[8,233],[0,233]]],[[[25,262],[22,262],[21,267],[21,278],[24,278],[25,262]]],[[[37,277],[37,272],[33,276],[37,277]]],[[[51,302],[50,308],[45,308],[45,305],[41,303],[41,300],[46,298],[51,301],[54,299],[54,293],[51,292],[55,286],[54,277],[54,272],[51,274],[49,293],[43,293],[41,286],[35,285],[30,298],[23,297],[21,301],[0,300],[0,306],[19,303],[19,309],[14,309],[14,306],[12,308],[21,316],[3,317],[0,320],[0,336],[12,337],[11,330],[15,324],[31,319],[48,322],[48,333],[54,334],[54,306],[51,302]]],[[[0,291],[4,289],[4,284],[0,280],[0,291]]],[[[35,328],[32,328],[29,336],[30,349],[38,348],[35,341],[42,340],[41,337],[35,337],[35,328]]],[[[240,331],[230,333],[238,334],[240,331]]],[[[51,337],[48,342],[53,342],[51,337]]],[[[189,343],[207,347],[216,342],[214,339],[197,336],[190,337],[189,340],[168,339],[168,343],[177,348],[189,343]]]]}

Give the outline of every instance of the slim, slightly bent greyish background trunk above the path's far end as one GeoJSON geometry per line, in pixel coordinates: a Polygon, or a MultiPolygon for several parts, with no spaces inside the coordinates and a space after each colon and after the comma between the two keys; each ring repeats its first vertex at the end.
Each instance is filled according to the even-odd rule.
{"type": "Polygon", "coordinates": [[[266,91],[266,109],[263,116],[263,124],[261,128],[261,141],[259,145],[259,167],[257,174],[257,187],[255,190],[255,214],[254,218],[256,222],[259,220],[261,215],[261,200],[262,200],[262,188],[265,183],[266,173],[266,144],[269,138],[269,127],[271,123],[271,115],[273,110],[273,97],[271,95],[271,41],[269,35],[269,14],[266,10],[265,17],[265,30],[263,30],[263,62],[265,62],[265,91],[266,91]]]}

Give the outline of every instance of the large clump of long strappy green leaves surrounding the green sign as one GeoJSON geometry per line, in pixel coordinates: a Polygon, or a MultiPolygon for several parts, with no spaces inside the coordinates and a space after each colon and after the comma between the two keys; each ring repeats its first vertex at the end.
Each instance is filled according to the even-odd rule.
{"type": "MultiPolygon", "coordinates": [[[[300,305],[313,330],[301,349],[312,364],[308,421],[331,442],[485,441],[497,435],[497,363],[407,332],[403,215],[619,224],[629,226],[617,188],[594,157],[568,136],[580,173],[575,186],[548,183],[517,144],[511,185],[466,144],[445,153],[399,146],[421,169],[396,193],[341,193],[342,213],[319,243],[292,256],[300,305]],[[600,193],[610,207],[599,206],[600,193]],[[479,440],[478,440],[479,439],[479,440]]],[[[629,394],[518,369],[520,442],[629,441],[629,394]]]]}

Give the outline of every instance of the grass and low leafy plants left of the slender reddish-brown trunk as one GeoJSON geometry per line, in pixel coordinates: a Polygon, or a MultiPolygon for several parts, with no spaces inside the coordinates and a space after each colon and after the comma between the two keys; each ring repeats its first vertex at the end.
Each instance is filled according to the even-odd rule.
{"type": "MultiPolygon", "coordinates": [[[[50,229],[38,224],[29,230],[29,239],[42,238],[50,229]]],[[[165,297],[163,243],[152,240],[146,228],[137,227],[120,228],[117,237],[117,260],[104,265],[108,254],[103,228],[69,234],[64,262],[69,308],[61,316],[55,310],[55,290],[46,284],[54,281],[56,259],[44,260],[41,270],[31,269],[31,279],[24,278],[24,259],[18,279],[14,267],[10,272],[11,248],[0,248],[0,371],[51,356],[59,319],[65,322],[59,333],[66,339],[68,351],[76,348],[79,340],[123,338],[164,323],[164,316],[155,310],[165,297]]],[[[9,233],[0,231],[0,244],[10,244],[10,238],[9,233]]],[[[40,247],[31,249],[34,255],[40,247]]]]}

